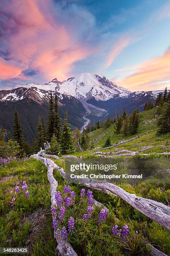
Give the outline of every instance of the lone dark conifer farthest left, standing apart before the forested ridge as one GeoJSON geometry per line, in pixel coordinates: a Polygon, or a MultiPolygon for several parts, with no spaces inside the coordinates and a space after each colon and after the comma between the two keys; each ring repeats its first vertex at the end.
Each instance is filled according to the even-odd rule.
{"type": "Polygon", "coordinates": [[[20,122],[20,117],[17,111],[15,111],[15,114],[14,114],[13,137],[14,137],[14,140],[17,141],[18,144],[20,145],[20,148],[23,148],[23,143],[24,143],[23,130],[20,122]]]}

